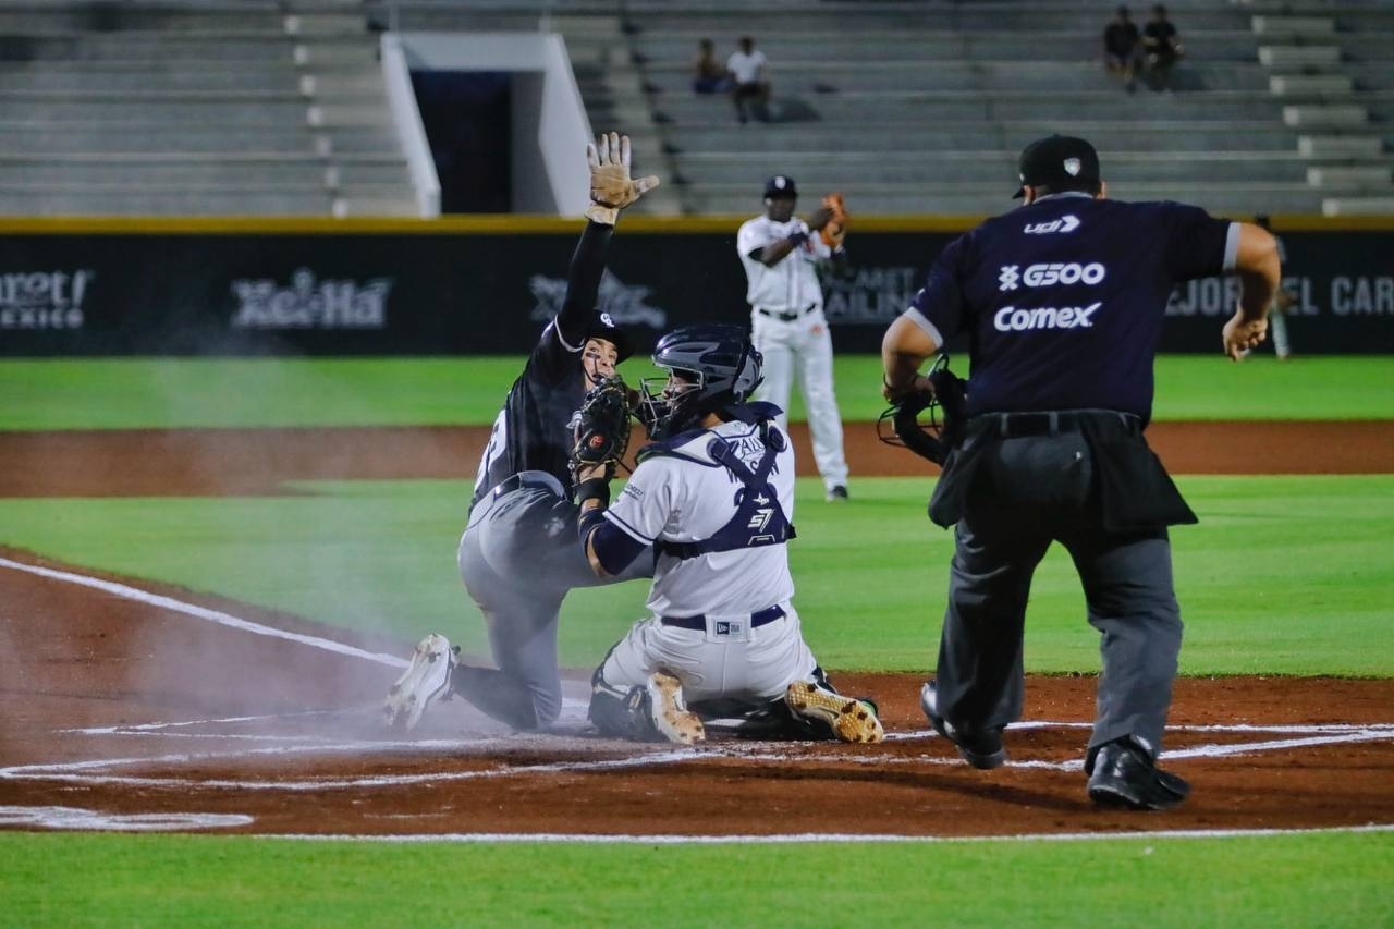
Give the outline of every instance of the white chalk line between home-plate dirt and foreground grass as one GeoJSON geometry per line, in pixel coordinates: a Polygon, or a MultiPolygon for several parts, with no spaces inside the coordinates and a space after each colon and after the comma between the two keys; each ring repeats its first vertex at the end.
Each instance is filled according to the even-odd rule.
{"type": "Polygon", "coordinates": [[[783,836],[590,836],[576,833],[445,833],[439,836],[305,836],[263,834],[256,841],[309,843],[566,843],[584,845],[785,845],[824,843],[907,843],[907,844],[966,844],[966,843],[1087,843],[1087,841],[1165,841],[1174,838],[1269,838],[1280,836],[1322,836],[1337,833],[1388,833],[1394,824],[1330,826],[1322,829],[1178,829],[1150,833],[1027,833],[1022,836],[899,836],[874,833],[793,833],[783,836]]]}

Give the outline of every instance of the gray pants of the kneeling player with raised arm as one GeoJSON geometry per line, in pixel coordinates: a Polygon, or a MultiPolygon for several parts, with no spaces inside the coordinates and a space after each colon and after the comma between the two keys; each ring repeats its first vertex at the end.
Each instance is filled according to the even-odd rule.
{"type": "Polygon", "coordinates": [[[556,622],[572,587],[654,576],[652,551],[618,577],[597,577],[576,534],[577,506],[555,477],[523,471],[470,512],[460,576],[484,612],[499,670],[531,693],[538,725],[562,711],[556,622]]]}

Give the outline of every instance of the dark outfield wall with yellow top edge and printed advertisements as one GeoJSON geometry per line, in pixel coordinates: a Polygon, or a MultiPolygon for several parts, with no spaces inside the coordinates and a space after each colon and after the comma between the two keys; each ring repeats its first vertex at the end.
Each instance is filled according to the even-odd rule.
{"type": "MultiPolygon", "coordinates": [[[[601,303],[641,335],[743,322],[743,218],[625,219],[601,303]]],[[[875,352],[940,250],[976,218],[860,219],[828,282],[843,352],[875,352]]],[[[1274,218],[1302,354],[1394,353],[1394,218],[1274,218]]],[[[0,223],[0,356],[498,354],[560,305],[580,223],[10,220],[0,223]]],[[[1216,352],[1234,280],[1181,289],[1164,352],[1216,352]]],[[[640,339],[643,340],[643,339],[640,339]]]]}

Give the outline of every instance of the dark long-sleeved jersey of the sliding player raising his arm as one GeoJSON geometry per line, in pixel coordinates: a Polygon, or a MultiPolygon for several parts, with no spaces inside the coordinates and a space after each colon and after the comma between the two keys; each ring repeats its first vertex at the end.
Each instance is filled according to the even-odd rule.
{"type": "Polygon", "coordinates": [[[474,499],[519,471],[546,471],[572,487],[572,417],[585,399],[581,350],[591,328],[613,226],[587,223],[572,258],[560,312],[542,329],[523,374],[493,420],[474,499]]]}

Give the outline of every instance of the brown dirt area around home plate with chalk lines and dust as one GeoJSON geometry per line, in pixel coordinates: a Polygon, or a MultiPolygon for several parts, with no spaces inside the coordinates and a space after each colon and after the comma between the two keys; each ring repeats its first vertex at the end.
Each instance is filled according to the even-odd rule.
{"type": "Polygon", "coordinates": [[[1083,791],[1093,677],[1030,678],[1029,717],[1008,732],[1012,762],[987,773],[927,731],[910,675],[838,678],[880,700],[889,739],[875,746],[601,739],[584,728],[583,679],[569,681],[555,732],[510,735],[452,702],[407,738],[383,728],[376,700],[399,672],[400,644],[146,583],[138,589],[176,603],[142,603],[61,573],[79,569],[47,565],[60,573],[45,576],[32,555],[0,557],[0,829],[52,827],[57,808],[85,810],[89,827],[163,815],[166,829],[318,834],[1394,823],[1394,681],[1179,681],[1167,764],[1195,792],[1178,810],[1136,815],[1094,809],[1083,791]]]}

